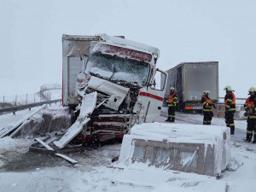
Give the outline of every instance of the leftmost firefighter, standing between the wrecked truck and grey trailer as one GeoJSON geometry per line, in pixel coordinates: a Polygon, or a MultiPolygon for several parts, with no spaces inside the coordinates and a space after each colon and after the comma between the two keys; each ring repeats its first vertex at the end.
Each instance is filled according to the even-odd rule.
{"type": "Polygon", "coordinates": [[[167,104],[168,104],[168,119],[166,121],[174,122],[175,120],[175,111],[176,111],[176,102],[177,102],[177,93],[175,92],[175,88],[170,88],[170,94],[168,96],[167,104]]]}

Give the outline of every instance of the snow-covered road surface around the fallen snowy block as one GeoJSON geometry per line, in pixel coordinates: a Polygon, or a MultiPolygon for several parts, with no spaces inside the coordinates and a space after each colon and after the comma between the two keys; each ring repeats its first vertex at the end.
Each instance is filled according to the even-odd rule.
{"type": "MultiPolygon", "coordinates": [[[[53,107],[54,108],[54,107],[53,107]]],[[[36,108],[32,109],[36,110],[36,108]]],[[[166,115],[166,108],[162,115],[166,115]]],[[[15,123],[32,113],[0,116],[2,125],[15,123]]],[[[158,122],[166,123],[160,116],[158,122]]],[[[177,113],[176,124],[201,125],[200,114],[177,113]]],[[[212,125],[225,125],[224,119],[212,119],[212,125]]],[[[32,140],[0,139],[0,191],[255,191],[256,144],[244,143],[247,122],[236,121],[236,134],[231,136],[230,168],[224,176],[163,171],[154,167],[141,170],[113,169],[111,160],[119,154],[121,144],[103,146],[84,153],[69,154],[79,163],[75,166],[47,154],[27,153],[32,140]]]]}

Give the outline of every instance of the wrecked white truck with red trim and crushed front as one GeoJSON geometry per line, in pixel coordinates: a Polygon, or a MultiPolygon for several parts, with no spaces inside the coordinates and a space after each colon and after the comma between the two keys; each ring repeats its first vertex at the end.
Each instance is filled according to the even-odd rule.
{"type": "Polygon", "coordinates": [[[73,125],[55,147],[122,138],[132,125],[159,117],[166,85],[155,84],[160,50],[112,37],[62,37],[62,104],[71,108],[73,125]]]}

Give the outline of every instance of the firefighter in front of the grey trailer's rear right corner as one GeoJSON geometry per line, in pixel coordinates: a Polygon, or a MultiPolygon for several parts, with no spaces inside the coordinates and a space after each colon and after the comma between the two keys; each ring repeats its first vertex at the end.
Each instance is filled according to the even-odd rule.
{"type": "Polygon", "coordinates": [[[214,104],[212,104],[212,99],[209,97],[209,90],[204,90],[203,95],[201,96],[201,102],[203,103],[203,125],[211,125],[212,122],[212,107],[216,108],[214,104]]]}

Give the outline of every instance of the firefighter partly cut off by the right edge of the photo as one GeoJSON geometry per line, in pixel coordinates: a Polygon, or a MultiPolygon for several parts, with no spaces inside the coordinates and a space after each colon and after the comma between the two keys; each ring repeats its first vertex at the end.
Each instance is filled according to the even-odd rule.
{"type": "Polygon", "coordinates": [[[246,142],[251,142],[254,131],[253,143],[256,143],[256,88],[251,87],[249,90],[249,97],[244,103],[246,113],[244,116],[247,117],[247,138],[246,142]]]}

